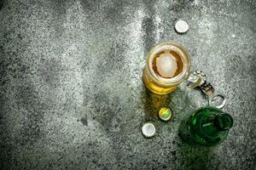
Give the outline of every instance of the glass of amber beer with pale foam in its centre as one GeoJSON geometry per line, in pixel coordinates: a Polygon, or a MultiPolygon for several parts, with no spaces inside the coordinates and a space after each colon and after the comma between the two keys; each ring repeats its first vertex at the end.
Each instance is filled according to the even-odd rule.
{"type": "Polygon", "coordinates": [[[189,71],[186,48],[176,42],[161,42],[148,53],[143,82],[155,94],[169,94],[189,76],[189,71]]]}

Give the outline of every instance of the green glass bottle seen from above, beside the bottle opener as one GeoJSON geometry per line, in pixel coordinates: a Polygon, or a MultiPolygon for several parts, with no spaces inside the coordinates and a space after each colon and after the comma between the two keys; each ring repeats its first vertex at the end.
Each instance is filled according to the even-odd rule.
{"type": "Polygon", "coordinates": [[[233,119],[230,114],[216,107],[207,106],[185,117],[178,133],[186,143],[212,146],[226,139],[232,125],[233,119]]]}

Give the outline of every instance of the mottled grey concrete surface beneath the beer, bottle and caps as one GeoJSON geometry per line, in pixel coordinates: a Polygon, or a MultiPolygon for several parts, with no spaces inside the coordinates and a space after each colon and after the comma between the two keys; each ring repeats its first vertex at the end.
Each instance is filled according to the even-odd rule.
{"type": "Polygon", "coordinates": [[[254,169],[254,0],[0,1],[0,169],[254,169]],[[211,2],[211,3],[210,3],[211,2]],[[173,30],[177,19],[190,26],[173,30]],[[177,136],[206,105],[181,85],[148,93],[148,49],[173,41],[192,70],[229,97],[235,124],[223,144],[193,147],[177,136]],[[172,122],[155,113],[170,105],[172,122]],[[144,139],[143,122],[158,135],[144,139]]]}

